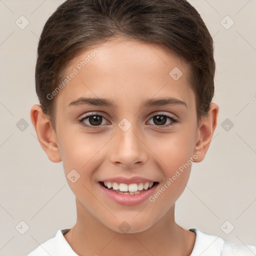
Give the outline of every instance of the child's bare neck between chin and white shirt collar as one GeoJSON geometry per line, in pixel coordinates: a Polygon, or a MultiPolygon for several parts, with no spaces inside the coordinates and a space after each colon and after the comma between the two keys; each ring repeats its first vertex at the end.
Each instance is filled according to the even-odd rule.
{"type": "Polygon", "coordinates": [[[80,256],[188,256],[195,234],[175,223],[174,207],[144,231],[119,233],[103,225],[76,200],[77,221],[64,237],[80,256]]]}

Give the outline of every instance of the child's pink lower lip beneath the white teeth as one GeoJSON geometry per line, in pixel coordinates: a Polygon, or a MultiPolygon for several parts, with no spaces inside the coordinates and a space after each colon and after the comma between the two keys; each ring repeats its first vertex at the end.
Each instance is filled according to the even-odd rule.
{"type": "Polygon", "coordinates": [[[103,193],[113,201],[123,205],[135,205],[148,199],[149,196],[154,193],[158,184],[155,184],[151,188],[147,189],[146,191],[140,192],[139,194],[121,194],[105,188],[100,183],[98,183],[98,185],[103,193]]]}

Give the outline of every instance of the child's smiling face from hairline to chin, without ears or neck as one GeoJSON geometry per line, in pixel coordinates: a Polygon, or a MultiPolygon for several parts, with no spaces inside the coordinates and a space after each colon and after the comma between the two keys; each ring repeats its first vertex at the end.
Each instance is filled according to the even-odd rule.
{"type": "Polygon", "coordinates": [[[174,203],[189,177],[190,157],[198,156],[198,161],[204,156],[198,151],[200,131],[195,95],[189,87],[189,67],[159,46],[139,41],[112,38],[96,48],[95,54],[91,54],[95,49],[91,48],[78,55],[66,70],[69,78],[70,73],[75,74],[56,97],[53,138],[65,175],[69,176],[71,170],[80,175],[77,180],[71,178],[75,182],[67,178],[76,196],[77,212],[91,214],[118,232],[123,221],[131,227],[130,232],[142,231],[166,213],[173,214],[174,203]],[[87,63],[82,66],[80,61],[86,57],[87,63]],[[172,76],[169,74],[174,67],[182,71],[181,76],[177,68],[172,76]],[[70,105],[81,97],[105,98],[117,107],[70,105]],[[166,97],[184,103],[141,106],[146,100],[166,97]],[[82,121],[90,127],[78,123],[92,113],[94,119],[82,121]],[[146,196],[145,192],[122,195],[99,183],[113,182],[116,177],[135,177],[131,183],[139,183],[136,177],[143,183],[158,183],[146,196]],[[162,193],[155,195],[161,187],[162,193]],[[122,200],[121,196],[126,198],[122,200]]]}

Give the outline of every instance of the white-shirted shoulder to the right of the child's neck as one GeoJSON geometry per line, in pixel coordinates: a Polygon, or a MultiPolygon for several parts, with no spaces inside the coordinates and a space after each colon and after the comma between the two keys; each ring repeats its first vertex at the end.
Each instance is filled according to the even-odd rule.
{"type": "Polygon", "coordinates": [[[225,241],[219,236],[206,234],[198,229],[190,228],[195,232],[194,248],[189,256],[253,256],[256,255],[256,247],[253,245],[240,245],[225,241]]]}

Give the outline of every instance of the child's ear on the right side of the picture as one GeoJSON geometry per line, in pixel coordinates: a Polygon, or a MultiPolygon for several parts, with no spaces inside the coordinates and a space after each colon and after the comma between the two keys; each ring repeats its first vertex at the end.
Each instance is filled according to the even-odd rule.
{"type": "Polygon", "coordinates": [[[211,103],[208,115],[202,116],[197,128],[197,139],[195,141],[194,154],[198,157],[193,160],[194,162],[200,162],[203,160],[217,125],[217,116],[218,105],[211,103]]]}

